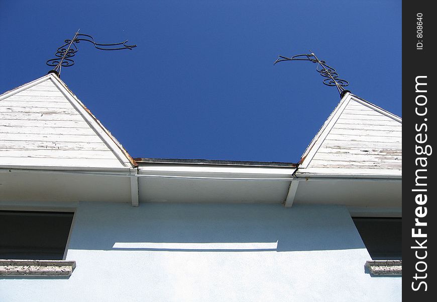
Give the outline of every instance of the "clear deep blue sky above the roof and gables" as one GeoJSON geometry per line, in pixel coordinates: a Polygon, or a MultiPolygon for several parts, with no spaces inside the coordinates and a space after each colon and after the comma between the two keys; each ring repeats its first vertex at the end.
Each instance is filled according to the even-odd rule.
{"type": "Polygon", "coordinates": [[[61,79],[133,157],[298,162],[340,98],[311,49],[355,95],[401,116],[401,1],[0,2],[0,93],[46,74],[77,29],[61,79]]]}

